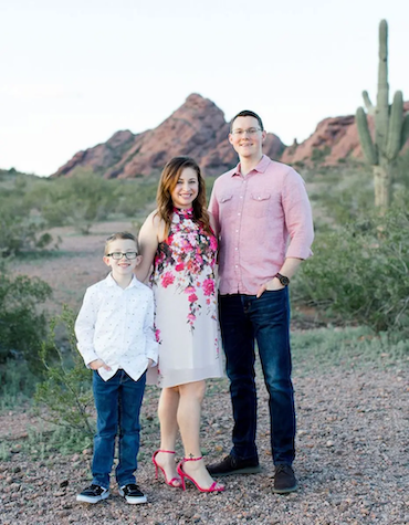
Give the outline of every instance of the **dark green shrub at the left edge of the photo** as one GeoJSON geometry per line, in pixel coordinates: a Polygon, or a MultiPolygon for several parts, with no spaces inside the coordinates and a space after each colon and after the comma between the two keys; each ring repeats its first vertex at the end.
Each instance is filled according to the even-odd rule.
{"type": "Polygon", "coordinates": [[[10,277],[4,265],[0,266],[0,367],[8,360],[8,366],[20,366],[23,360],[32,371],[40,372],[39,351],[46,334],[46,318],[38,305],[51,293],[40,279],[10,277]]]}

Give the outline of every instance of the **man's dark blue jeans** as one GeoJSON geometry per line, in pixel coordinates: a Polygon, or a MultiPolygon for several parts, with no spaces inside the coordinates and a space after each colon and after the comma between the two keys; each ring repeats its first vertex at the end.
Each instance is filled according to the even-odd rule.
{"type": "Polygon", "coordinates": [[[258,458],[254,339],[269,391],[271,449],[274,464],[292,464],[295,455],[295,408],[291,381],[289,290],[255,295],[221,295],[220,324],[233,407],[231,454],[258,458]]]}

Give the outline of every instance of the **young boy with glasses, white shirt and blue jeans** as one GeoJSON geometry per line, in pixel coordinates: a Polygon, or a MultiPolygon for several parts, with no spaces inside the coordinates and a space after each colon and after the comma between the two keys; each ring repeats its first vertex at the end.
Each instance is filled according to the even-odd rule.
{"type": "Polygon", "coordinates": [[[78,350],[93,371],[97,431],[92,462],[93,481],[76,501],[97,503],[109,496],[115,438],[119,437],[116,481],[127,503],[146,503],[136,485],[139,412],[146,369],[157,361],[151,291],[134,275],[140,263],[132,233],[111,235],[104,262],[109,275],[86,290],[75,322],[78,350]]]}

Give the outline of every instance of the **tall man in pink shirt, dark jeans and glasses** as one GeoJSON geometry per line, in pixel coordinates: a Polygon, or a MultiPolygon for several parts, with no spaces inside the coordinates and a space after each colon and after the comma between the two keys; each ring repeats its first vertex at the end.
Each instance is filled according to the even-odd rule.
{"type": "Polygon", "coordinates": [[[291,380],[289,284],[314,238],[301,176],[263,155],[259,115],[240,112],[229,141],[240,164],[219,177],[209,211],[220,239],[220,324],[233,408],[233,448],[211,475],[260,472],[255,445],[254,339],[270,395],[273,492],[297,489],[295,408],[291,380]]]}

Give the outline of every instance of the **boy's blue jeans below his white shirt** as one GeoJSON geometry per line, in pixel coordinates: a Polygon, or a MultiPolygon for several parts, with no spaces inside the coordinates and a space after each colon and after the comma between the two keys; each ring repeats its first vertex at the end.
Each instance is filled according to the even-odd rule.
{"type": "Polygon", "coordinates": [[[107,381],[94,370],[93,390],[97,413],[93,484],[109,487],[114,462],[115,438],[119,437],[119,462],[115,475],[119,486],[135,483],[139,451],[139,412],[144,397],[146,374],[134,381],[125,370],[118,370],[107,381]]]}

